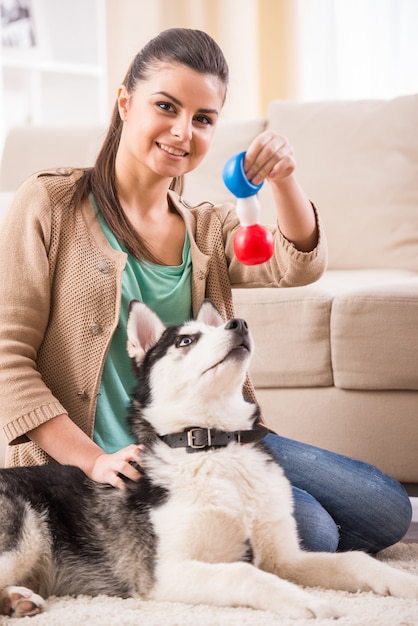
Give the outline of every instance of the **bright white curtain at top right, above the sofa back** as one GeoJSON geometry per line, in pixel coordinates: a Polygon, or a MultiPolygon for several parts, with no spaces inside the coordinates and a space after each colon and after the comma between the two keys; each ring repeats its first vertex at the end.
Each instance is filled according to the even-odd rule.
{"type": "Polygon", "coordinates": [[[417,0],[296,0],[299,97],[418,93],[417,0]]]}

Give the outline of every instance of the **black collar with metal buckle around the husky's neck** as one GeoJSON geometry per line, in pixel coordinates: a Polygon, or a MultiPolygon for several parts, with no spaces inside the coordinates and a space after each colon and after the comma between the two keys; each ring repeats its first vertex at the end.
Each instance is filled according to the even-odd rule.
{"type": "Polygon", "coordinates": [[[160,436],[170,448],[186,448],[187,452],[199,452],[212,448],[224,448],[230,443],[255,443],[267,435],[269,429],[257,424],[251,430],[226,432],[212,428],[188,428],[181,433],[160,436]]]}

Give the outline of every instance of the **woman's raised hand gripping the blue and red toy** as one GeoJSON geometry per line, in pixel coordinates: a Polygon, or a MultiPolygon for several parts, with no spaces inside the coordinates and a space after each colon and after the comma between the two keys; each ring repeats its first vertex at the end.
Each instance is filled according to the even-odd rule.
{"type": "Polygon", "coordinates": [[[245,174],[254,185],[260,185],[265,178],[280,183],[293,174],[295,166],[289,141],[272,130],[265,130],[254,139],[244,161],[245,174]]]}

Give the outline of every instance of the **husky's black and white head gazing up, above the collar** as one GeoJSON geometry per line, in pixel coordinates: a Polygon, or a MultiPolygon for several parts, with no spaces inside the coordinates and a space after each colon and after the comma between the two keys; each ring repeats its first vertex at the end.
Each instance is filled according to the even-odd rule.
{"type": "Polygon", "coordinates": [[[251,427],[247,416],[254,407],[243,400],[242,386],[253,340],[244,320],[224,322],[206,301],[196,320],[166,328],[134,301],[127,331],[138,378],[136,405],[159,434],[190,425],[251,427]],[[243,425],[243,417],[234,420],[245,404],[243,425]]]}

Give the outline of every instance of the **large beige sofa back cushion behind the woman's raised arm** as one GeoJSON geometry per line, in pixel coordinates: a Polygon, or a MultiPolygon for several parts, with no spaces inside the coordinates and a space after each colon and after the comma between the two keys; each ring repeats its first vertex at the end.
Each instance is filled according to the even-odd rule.
{"type": "Polygon", "coordinates": [[[268,118],[294,147],[298,179],[324,221],[329,267],[418,270],[418,95],[274,101],[268,118]]]}

